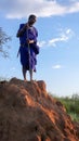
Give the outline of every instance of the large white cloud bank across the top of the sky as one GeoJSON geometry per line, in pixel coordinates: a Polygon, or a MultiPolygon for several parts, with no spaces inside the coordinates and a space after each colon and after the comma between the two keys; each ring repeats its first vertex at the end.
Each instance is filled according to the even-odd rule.
{"type": "Polygon", "coordinates": [[[70,1],[70,4],[60,4],[56,0],[2,0],[0,12],[9,18],[22,18],[30,13],[37,16],[64,15],[79,12],[79,1],[70,1]]]}

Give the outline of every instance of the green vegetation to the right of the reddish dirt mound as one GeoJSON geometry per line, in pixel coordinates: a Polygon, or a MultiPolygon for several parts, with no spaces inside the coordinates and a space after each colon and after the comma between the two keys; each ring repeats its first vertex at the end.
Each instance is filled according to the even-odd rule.
{"type": "Polygon", "coordinates": [[[67,113],[73,120],[79,123],[79,94],[74,94],[71,98],[57,98],[66,107],[67,113]]]}

